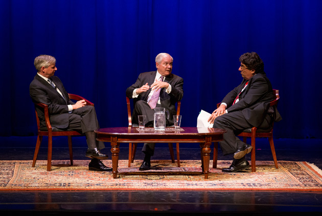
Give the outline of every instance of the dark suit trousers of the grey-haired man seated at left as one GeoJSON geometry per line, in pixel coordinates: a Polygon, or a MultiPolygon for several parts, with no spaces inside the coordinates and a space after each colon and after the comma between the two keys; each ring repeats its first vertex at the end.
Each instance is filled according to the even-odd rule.
{"type": "Polygon", "coordinates": [[[100,128],[94,106],[83,106],[68,115],[68,129],[73,129],[79,133],[85,133],[86,142],[89,149],[105,148],[103,142],[96,141],[94,130],[100,128]]]}

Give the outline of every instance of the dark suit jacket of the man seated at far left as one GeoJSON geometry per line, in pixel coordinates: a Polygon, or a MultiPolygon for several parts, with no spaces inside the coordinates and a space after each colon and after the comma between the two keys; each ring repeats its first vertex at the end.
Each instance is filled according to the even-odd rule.
{"type": "MultiPolygon", "coordinates": [[[[53,127],[67,128],[69,124],[67,105],[75,103],[68,97],[60,79],[57,76],[52,76],[51,79],[65,99],[38,74],[35,75],[29,86],[30,97],[34,103],[44,103],[48,105],[50,123],[53,127]]],[[[35,109],[38,112],[40,127],[45,127],[43,110],[37,105],[35,105],[35,109]]]]}

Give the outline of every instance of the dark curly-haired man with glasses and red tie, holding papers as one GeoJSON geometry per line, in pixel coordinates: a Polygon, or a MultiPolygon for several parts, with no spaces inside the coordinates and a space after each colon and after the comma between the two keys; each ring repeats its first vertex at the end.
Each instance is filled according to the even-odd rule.
{"type": "Polygon", "coordinates": [[[245,155],[252,147],[239,140],[237,134],[254,126],[267,129],[272,121],[281,120],[277,109],[268,112],[269,102],[276,96],[264,72],[262,59],[256,52],[247,52],[239,58],[239,61],[242,83],[224,97],[208,120],[214,123],[215,128],[227,130],[220,147],[224,155],[234,154],[232,165],[222,169],[223,172],[238,172],[249,167],[245,155]]]}

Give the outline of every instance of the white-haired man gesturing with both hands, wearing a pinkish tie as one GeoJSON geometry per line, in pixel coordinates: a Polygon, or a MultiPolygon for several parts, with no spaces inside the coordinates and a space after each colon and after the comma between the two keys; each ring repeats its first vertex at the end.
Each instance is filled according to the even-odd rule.
{"type": "MultiPolygon", "coordinates": [[[[133,123],[137,123],[137,116],[145,115],[146,126],[153,126],[154,107],[165,107],[169,111],[166,125],[173,125],[173,115],[176,115],[175,103],[183,96],[183,79],[171,73],[173,58],[168,53],[159,53],[155,58],[157,71],[141,73],[136,82],[127,88],[126,96],[133,98],[133,123]],[[156,100],[153,93],[159,91],[156,100]],[[155,101],[155,102],[152,102],[155,101]]],[[[139,170],[151,168],[150,159],[154,154],[154,143],[145,143],[142,151],[145,153],[139,170]]]]}

